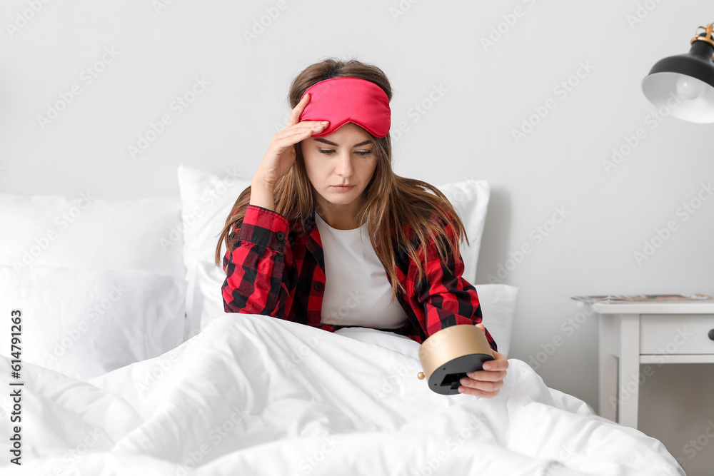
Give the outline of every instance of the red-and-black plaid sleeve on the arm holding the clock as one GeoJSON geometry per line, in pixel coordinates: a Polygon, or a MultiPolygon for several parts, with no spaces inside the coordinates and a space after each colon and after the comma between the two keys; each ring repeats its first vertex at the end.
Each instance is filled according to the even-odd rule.
{"type": "MultiPolygon", "coordinates": [[[[456,233],[451,224],[446,224],[444,229],[450,237],[456,233]]],[[[427,334],[432,335],[451,325],[481,323],[481,305],[476,288],[462,277],[461,253],[448,253],[446,262],[441,263],[436,242],[432,240],[426,247],[426,261],[426,276],[415,283],[415,292],[418,302],[424,306],[427,334]]],[[[412,265],[416,266],[416,263],[412,265]]],[[[416,275],[416,270],[410,275],[416,275]]],[[[493,350],[498,350],[488,329],[486,340],[493,350]]]]}

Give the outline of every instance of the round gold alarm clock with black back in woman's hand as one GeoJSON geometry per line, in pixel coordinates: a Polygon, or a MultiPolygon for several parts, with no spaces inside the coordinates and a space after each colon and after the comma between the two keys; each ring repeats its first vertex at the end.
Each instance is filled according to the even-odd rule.
{"type": "Polygon", "coordinates": [[[486,333],[476,325],[458,324],[430,335],[419,348],[420,372],[429,388],[441,395],[458,393],[461,379],[467,372],[483,369],[486,360],[493,360],[486,333]]]}

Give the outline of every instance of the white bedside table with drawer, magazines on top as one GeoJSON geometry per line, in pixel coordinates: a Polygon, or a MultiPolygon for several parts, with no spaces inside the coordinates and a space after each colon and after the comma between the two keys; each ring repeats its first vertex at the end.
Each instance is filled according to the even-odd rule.
{"type": "Polygon", "coordinates": [[[640,385],[656,367],[714,363],[712,300],[585,305],[600,315],[601,417],[637,428],[640,385]]]}

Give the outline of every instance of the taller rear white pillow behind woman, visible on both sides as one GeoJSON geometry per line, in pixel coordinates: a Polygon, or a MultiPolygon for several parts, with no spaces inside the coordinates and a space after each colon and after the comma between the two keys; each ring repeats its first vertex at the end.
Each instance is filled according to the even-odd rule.
{"type": "MultiPolygon", "coordinates": [[[[240,176],[235,169],[226,171],[226,175],[221,178],[196,168],[178,166],[178,188],[183,203],[183,262],[186,264],[188,281],[186,324],[189,328],[196,329],[201,325],[201,304],[195,302],[198,296],[194,293],[199,287],[194,282],[199,272],[196,266],[200,261],[213,262],[218,234],[226,223],[228,213],[238,195],[251,184],[250,180],[241,180],[240,176]]],[[[476,264],[490,195],[488,182],[466,180],[446,183],[437,188],[456,208],[466,228],[470,244],[466,245],[466,240],[461,243],[463,278],[473,284],[476,281],[476,264]]],[[[221,243],[221,260],[225,254],[226,245],[221,243]]],[[[205,273],[205,270],[202,272],[205,273]]],[[[220,292],[218,295],[220,297],[220,292]]]]}

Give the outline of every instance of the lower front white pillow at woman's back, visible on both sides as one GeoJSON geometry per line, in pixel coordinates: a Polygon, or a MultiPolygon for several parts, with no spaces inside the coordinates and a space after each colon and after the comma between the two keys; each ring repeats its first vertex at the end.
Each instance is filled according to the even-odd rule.
{"type": "MultiPolygon", "coordinates": [[[[197,328],[193,328],[191,336],[196,335],[219,316],[226,313],[223,308],[221,287],[226,279],[223,268],[201,261],[196,273],[195,303],[201,309],[201,318],[197,328]]],[[[511,330],[513,316],[516,313],[518,288],[508,284],[478,284],[478,302],[481,305],[483,325],[498,344],[498,352],[508,355],[511,348],[511,330]]],[[[186,338],[186,335],[184,335],[186,338]]]]}

